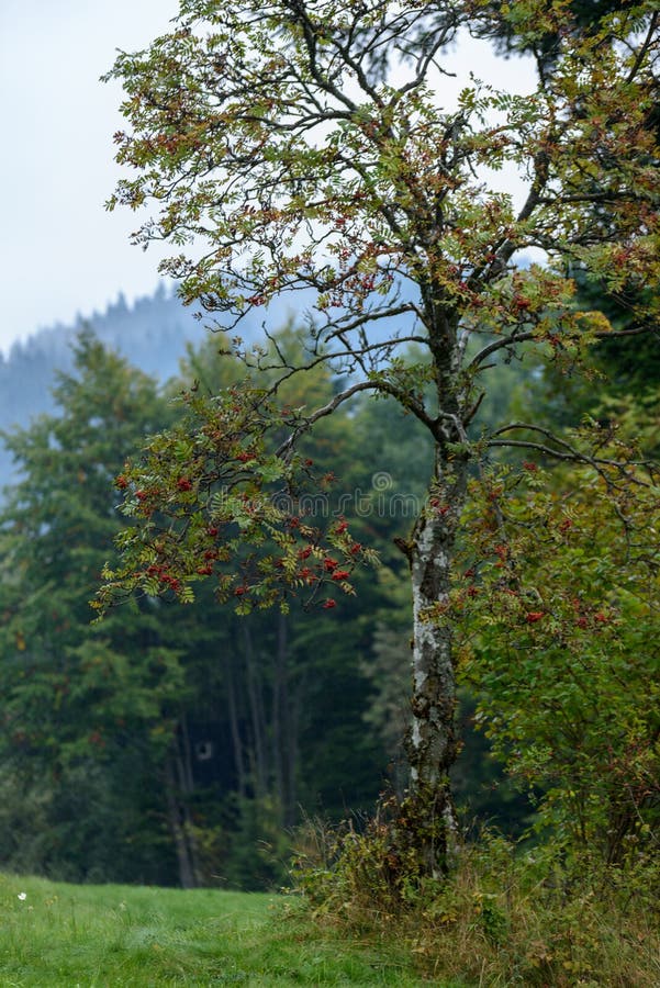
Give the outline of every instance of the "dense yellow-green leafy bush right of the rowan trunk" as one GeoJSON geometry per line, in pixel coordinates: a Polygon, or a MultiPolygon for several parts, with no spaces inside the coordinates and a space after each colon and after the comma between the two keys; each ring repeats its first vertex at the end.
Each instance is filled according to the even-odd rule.
{"type": "Polygon", "coordinates": [[[527,462],[474,483],[461,676],[495,751],[542,793],[540,822],[620,864],[660,839],[660,502],[612,465],[562,480],[527,462]]]}

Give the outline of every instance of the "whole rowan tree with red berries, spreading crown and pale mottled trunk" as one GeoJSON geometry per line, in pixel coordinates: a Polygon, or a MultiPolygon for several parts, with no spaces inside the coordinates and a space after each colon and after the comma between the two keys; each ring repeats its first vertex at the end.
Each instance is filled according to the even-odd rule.
{"type": "Polygon", "coordinates": [[[657,324],[657,301],[631,291],[657,281],[659,268],[657,25],[650,2],[584,25],[570,4],[546,0],[181,0],[171,33],[121,53],[109,74],[126,92],[118,160],[134,169],[110,207],[150,206],[136,243],[180,248],[161,270],[230,339],[247,312],[267,314],[289,295],[310,314],[310,343],[303,360],[273,346],[246,355],[249,385],[191,395],[183,431],[154,440],[126,472],[137,520],[104,597],[142,587],[187,599],[194,580],[219,579],[222,563],[221,596],[238,594],[240,607],[309,581],[311,603],[333,606],[318,587],[350,591],[362,547],[333,521],[331,554],[317,525],[273,502],[272,485],[295,493],[311,473],[298,440],[340,404],[365,392],[400,402],[435,449],[427,497],[402,541],[414,628],[401,820],[427,873],[446,867],[454,827],[455,656],[445,617],[468,474],[507,446],[605,473],[629,469],[534,422],[502,422],[478,437],[470,426],[493,362],[536,350],[568,373],[594,341],[657,324]],[[538,49],[530,91],[501,91],[476,66],[450,104],[449,53],[466,33],[538,49]],[[522,180],[521,202],[501,190],[505,169],[522,180]],[[522,263],[532,248],[540,260],[522,263]],[[625,330],[579,306],[578,271],[635,299],[625,330]],[[422,355],[414,362],[403,357],[410,343],[422,355]],[[282,408],[278,382],[321,362],[345,382],[333,401],[282,408]]]}

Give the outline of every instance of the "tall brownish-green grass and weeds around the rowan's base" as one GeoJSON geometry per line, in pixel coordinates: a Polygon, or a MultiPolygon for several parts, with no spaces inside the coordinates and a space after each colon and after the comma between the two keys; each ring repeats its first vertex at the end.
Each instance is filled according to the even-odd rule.
{"type": "Polygon", "coordinates": [[[315,921],[346,936],[396,941],[439,985],[657,988],[660,865],[626,871],[485,835],[448,878],[392,869],[388,827],[309,831],[295,878],[315,921]]]}

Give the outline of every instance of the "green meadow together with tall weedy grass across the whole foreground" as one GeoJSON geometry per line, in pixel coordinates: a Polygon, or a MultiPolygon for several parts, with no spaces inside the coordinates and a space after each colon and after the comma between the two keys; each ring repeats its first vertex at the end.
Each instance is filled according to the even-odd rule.
{"type": "Polygon", "coordinates": [[[557,899],[515,880],[495,894],[482,878],[468,863],[437,899],[389,922],[369,921],[374,900],[360,886],[357,911],[340,899],[339,922],[315,921],[295,897],[0,874],[0,988],[660,985],[649,900],[626,895],[622,907],[605,889],[557,899]]]}

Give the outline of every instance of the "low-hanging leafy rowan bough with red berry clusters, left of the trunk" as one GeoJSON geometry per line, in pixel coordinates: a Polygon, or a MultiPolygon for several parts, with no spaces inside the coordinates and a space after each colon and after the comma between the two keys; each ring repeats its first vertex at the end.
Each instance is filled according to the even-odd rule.
{"type": "MultiPolygon", "coordinates": [[[[118,590],[136,587],[153,597],[170,590],[191,603],[193,583],[211,575],[220,603],[233,595],[238,614],[278,599],[287,609],[287,592],[301,591],[310,603],[324,590],[351,593],[353,569],[373,553],[350,537],[343,519],[325,542],[321,529],[301,520],[312,461],[298,453],[284,459],[267,445],[272,431],[295,428],[295,413],[278,409],[249,385],[217,397],[190,393],[184,401],[191,416],[154,437],[144,461],[115,481],[128,492],[124,513],[142,524],[118,541],[123,564],[107,571],[101,606],[118,590]]],[[[336,600],[326,596],[322,606],[336,600]]]]}

